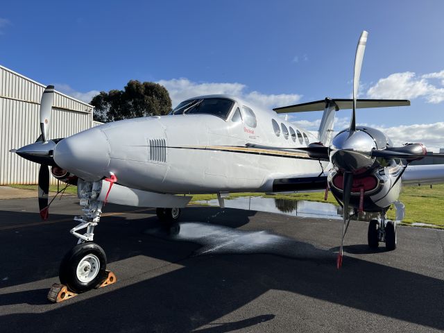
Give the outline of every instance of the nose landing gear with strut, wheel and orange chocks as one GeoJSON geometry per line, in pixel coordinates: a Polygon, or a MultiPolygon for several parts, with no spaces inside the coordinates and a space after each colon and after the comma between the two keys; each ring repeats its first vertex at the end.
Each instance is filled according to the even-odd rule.
{"type": "Polygon", "coordinates": [[[98,200],[101,186],[101,181],[78,182],[83,215],[74,218],[80,224],[70,230],[78,238],[78,244],[62,259],[59,270],[61,284],[53,284],[48,293],[48,299],[52,302],[66,300],[93,288],[105,287],[117,280],[112,272],[106,271],[103,248],[92,243],[94,228],[100,221],[103,206],[103,202],[98,200]],[[82,229],[86,229],[85,234],[78,232],[82,229]]]}

